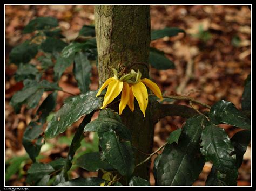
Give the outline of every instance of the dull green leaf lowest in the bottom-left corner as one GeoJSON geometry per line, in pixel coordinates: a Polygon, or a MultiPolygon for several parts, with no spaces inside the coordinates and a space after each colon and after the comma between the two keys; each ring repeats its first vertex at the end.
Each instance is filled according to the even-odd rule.
{"type": "Polygon", "coordinates": [[[38,180],[54,171],[55,169],[53,169],[49,164],[33,163],[28,170],[28,177],[26,182],[30,185],[35,185],[38,180]]]}

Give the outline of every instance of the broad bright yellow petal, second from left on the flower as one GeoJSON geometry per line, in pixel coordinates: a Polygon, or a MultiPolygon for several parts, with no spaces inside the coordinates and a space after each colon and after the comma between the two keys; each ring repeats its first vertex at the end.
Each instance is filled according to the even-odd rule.
{"type": "Polygon", "coordinates": [[[100,109],[103,109],[107,106],[107,104],[111,103],[114,98],[116,98],[120,92],[122,91],[123,88],[123,82],[113,79],[109,83],[109,87],[107,87],[107,92],[104,97],[103,105],[100,109]]]}

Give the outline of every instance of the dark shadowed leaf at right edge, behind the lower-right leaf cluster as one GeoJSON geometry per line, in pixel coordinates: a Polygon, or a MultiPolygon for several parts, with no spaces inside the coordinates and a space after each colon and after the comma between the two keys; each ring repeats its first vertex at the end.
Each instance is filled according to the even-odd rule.
{"type": "Polygon", "coordinates": [[[244,158],[244,153],[247,150],[247,146],[251,140],[251,131],[243,130],[235,133],[235,135],[231,138],[231,142],[234,146],[237,167],[239,168],[242,164],[242,160],[244,158]]]}

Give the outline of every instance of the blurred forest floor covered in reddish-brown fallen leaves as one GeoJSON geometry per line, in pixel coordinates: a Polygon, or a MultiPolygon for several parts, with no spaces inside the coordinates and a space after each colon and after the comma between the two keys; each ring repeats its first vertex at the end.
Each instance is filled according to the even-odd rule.
{"type": "MultiPolygon", "coordinates": [[[[35,17],[55,17],[59,21],[63,35],[72,39],[83,25],[94,24],[93,6],[84,5],[6,5],[5,6],[5,55],[8,63],[8,54],[11,49],[30,37],[22,34],[22,29],[35,17]]],[[[244,90],[244,81],[251,72],[251,11],[248,6],[224,5],[152,5],[152,30],[164,27],[179,27],[186,31],[175,37],[165,37],[154,40],[152,47],[166,53],[176,69],[156,70],[151,68],[150,76],[164,95],[187,95],[200,102],[212,105],[223,99],[231,101],[241,109],[241,96],[244,90]]],[[[5,64],[5,160],[21,157],[26,154],[22,146],[22,136],[26,125],[29,124],[35,110],[22,107],[21,113],[16,115],[9,105],[12,95],[20,90],[22,84],[16,82],[14,73],[17,67],[5,64]]],[[[79,94],[76,80],[73,78],[72,67],[65,70],[59,86],[64,90],[79,94]]],[[[50,76],[46,76],[50,77],[50,76]]],[[[92,70],[92,90],[98,89],[97,68],[92,70]]],[[[47,93],[43,94],[42,100],[47,93]]],[[[58,93],[57,110],[69,94],[58,93]]],[[[184,101],[179,104],[189,105],[184,101]]],[[[198,106],[198,109],[203,109],[198,106]]],[[[94,118],[97,116],[94,116],[94,118]]],[[[156,124],[154,147],[156,150],[163,145],[170,132],[180,127],[185,120],[181,117],[166,117],[156,124]]],[[[43,146],[42,162],[50,162],[54,157],[65,157],[73,132],[79,121],[65,132],[67,138],[53,140],[43,146]]],[[[232,137],[239,131],[230,125],[221,125],[232,137]]],[[[91,142],[92,133],[87,133],[86,140],[91,142]]],[[[30,160],[22,164],[19,173],[11,176],[6,185],[25,185],[25,172],[31,165],[30,160]]],[[[194,186],[203,186],[207,174],[211,170],[211,163],[206,162],[203,172],[194,186]]],[[[151,165],[151,167],[153,167],[151,165]]],[[[71,176],[89,176],[85,170],[76,169],[71,176]]],[[[153,174],[150,182],[154,185],[153,174]]],[[[251,185],[251,146],[244,155],[244,162],[239,169],[238,186],[251,185]]]]}

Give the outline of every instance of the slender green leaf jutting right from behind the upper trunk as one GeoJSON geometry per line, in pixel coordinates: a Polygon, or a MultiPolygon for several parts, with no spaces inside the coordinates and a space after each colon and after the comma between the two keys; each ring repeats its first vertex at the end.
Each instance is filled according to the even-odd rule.
{"type": "Polygon", "coordinates": [[[151,32],[151,40],[156,40],[163,37],[177,36],[178,33],[180,32],[183,32],[184,34],[186,34],[183,29],[179,29],[177,27],[166,27],[164,29],[154,30],[151,32]]]}

